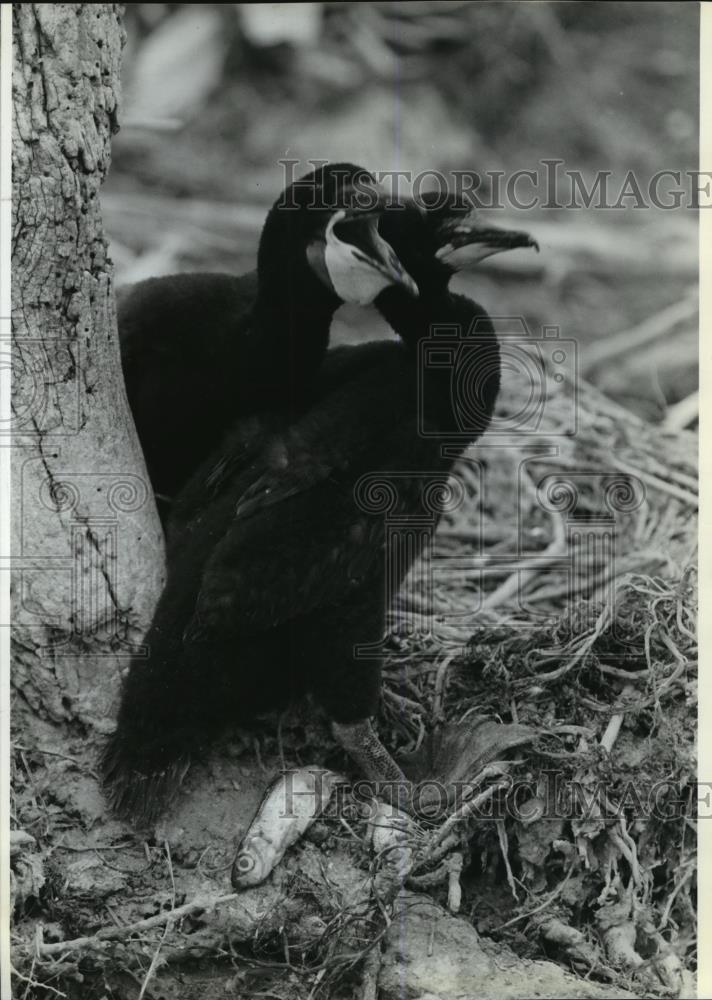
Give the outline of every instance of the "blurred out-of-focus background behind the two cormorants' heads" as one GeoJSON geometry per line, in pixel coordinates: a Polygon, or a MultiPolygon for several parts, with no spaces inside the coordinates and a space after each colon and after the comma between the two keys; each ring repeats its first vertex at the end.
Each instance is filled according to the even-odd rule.
{"type": "MultiPolygon", "coordinates": [[[[615,195],[631,170],[645,191],[698,167],[696,3],[128,4],[126,29],[103,198],[120,283],[252,267],[284,157],[507,175],[560,158],[589,182],[611,171],[615,195]]],[[[496,210],[542,253],[457,280],[495,316],[575,337],[581,374],[631,409],[691,426],[687,206],[496,210]]],[[[334,339],[385,335],[343,309],[334,339]]]]}

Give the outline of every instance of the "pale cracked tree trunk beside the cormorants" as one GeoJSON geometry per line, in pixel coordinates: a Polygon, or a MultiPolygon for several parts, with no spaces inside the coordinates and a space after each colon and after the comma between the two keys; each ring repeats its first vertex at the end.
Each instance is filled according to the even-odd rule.
{"type": "Polygon", "coordinates": [[[107,731],[164,573],[98,197],[124,34],[118,4],[13,16],[15,707],[107,731]]]}

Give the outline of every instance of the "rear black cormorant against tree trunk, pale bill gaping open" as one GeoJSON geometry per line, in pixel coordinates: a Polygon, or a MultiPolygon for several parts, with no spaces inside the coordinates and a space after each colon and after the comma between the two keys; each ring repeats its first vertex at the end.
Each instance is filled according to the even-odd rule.
{"type": "Polygon", "coordinates": [[[239,417],[298,413],[343,302],[413,282],[378,235],[382,193],[335,163],[290,185],[262,230],[257,269],[149,278],[119,295],[126,392],[159,509],[239,417]]]}

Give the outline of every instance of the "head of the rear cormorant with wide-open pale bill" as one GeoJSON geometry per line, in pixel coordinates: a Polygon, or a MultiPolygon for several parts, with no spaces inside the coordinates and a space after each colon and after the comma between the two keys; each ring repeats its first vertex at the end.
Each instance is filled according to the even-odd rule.
{"type": "Polygon", "coordinates": [[[384,192],[363,167],[331,163],[307,174],[267,217],[260,276],[281,267],[294,285],[306,266],[336,299],[357,305],[373,302],[389,285],[417,296],[415,281],[378,231],[385,207],[384,192]]]}

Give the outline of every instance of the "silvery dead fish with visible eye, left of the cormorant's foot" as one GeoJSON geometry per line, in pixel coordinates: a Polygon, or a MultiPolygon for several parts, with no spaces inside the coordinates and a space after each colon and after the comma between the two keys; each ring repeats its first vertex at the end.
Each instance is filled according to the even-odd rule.
{"type": "Polygon", "coordinates": [[[286,771],[269,786],[232,866],[235,889],[247,889],[267,876],[323,811],[344,779],[322,767],[286,771]]]}

